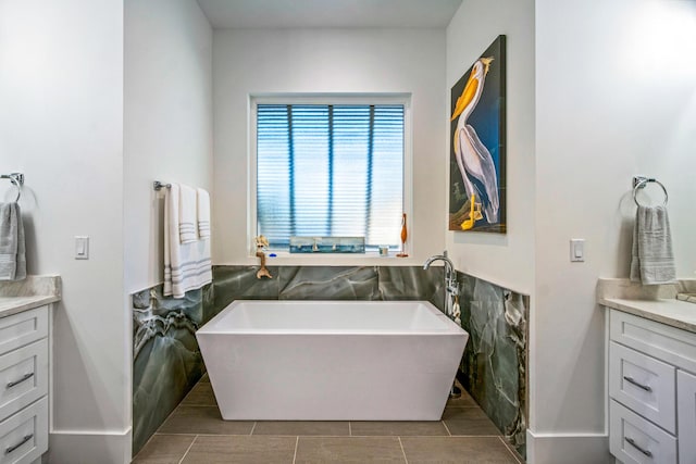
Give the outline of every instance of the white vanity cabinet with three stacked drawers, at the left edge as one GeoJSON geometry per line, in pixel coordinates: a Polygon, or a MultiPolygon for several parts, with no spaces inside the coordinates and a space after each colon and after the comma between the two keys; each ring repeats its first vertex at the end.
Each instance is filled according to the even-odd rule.
{"type": "Polygon", "coordinates": [[[0,463],[48,450],[48,305],[0,317],[0,463]]]}

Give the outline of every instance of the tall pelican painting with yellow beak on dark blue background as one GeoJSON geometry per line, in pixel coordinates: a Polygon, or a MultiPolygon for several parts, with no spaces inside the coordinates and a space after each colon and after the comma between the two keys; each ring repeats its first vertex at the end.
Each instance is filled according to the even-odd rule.
{"type": "Polygon", "coordinates": [[[505,36],[452,87],[449,229],[506,231],[505,36]]]}

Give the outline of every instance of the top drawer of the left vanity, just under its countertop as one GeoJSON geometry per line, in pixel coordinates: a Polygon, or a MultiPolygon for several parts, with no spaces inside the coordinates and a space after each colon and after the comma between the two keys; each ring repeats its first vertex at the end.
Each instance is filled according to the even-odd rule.
{"type": "Polygon", "coordinates": [[[0,354],[48,337],[48,306],[0,317],[0,354]]]}

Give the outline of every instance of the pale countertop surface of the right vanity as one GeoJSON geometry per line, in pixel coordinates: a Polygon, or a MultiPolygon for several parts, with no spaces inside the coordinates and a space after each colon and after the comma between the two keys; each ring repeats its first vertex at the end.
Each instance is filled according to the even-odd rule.
{"type": "Polygon", "coordinates": [[[678,299],[599,298],[599,304],[696,334],[696,304],[678,299]]]}

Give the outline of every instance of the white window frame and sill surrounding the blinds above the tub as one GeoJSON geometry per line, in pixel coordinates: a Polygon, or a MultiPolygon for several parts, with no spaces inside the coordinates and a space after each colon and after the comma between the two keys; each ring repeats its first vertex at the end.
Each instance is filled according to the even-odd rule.
{"type": "MultiPolygon", "coordinates": [[[[414,240],[411,221],[413,217],[413,130],[411,93],[253,93],[248,98],[248,203],[247,203],[247,243],[249,243],[249,258],[256,259],[253,246],[257,231],[257,106],[259,104],[402,104],[403,105],[403,212],[407,217],[407,252],[412,253],[414,240]]],[[[352,253],[290,253],[289,251],[272,250],[276,258],[275,264],[301,264],[307,263],[355,263],[365,259],[380,261],[388,258],[378,256],[376,251],[366,251],[364,254],[352,253]]],[[[394,258],[393,254],[389,258],[394,258]]],[[[273,264],[273,263],[269,263],[273,264]]]]}

